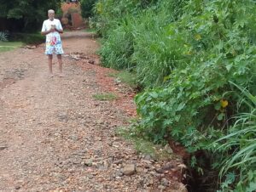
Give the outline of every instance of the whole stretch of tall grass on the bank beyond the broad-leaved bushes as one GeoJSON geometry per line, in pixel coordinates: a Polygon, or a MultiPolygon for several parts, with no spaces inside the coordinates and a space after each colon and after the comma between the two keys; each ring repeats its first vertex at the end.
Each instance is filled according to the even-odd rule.
{"type": "Polygon", "coordinates": [[[105,38],[100,52],[103,65],[129,70],[136,67],[134,71],[140,84],[144,87],[160,85],[172,68],[184,58],[184,48],[177,49],[177,43],[183,45],[185,36],[182,31],[176,30],[172,21],[182,13],[185,1],[165,0],[153,3],[154,6],[140,12],[138,10],[143,1],[138,1],[142,4],[130,2],[107,14],[104,11],[108,10],[111,2],[106,0],[104,8],[100,6],[101,3],[97,4],[102,13],[100,23],[106,20],[102,31],[109,25],[108,31],[103,32],[105,38]],[[121,19],[113,18],[121,14],[122,10],[132,14],[124,14],[121,19]]]}

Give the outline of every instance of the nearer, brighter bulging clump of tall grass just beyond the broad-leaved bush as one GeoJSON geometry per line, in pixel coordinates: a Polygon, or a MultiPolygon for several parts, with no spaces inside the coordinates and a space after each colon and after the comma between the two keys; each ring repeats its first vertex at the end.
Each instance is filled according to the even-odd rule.
{"type": "Polygon", "coordinates": [[[165,76],[185,59],[183,32],[171,20],[170,14],[148,11],[133,24],[135,42],[131,59],[137,64],[137,78],[144,87],[162,84],[165,76]]]}

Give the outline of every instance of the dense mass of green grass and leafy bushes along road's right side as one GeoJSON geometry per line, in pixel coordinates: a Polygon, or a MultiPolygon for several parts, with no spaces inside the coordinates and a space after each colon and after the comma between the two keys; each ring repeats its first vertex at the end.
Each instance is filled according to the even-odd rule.
{"type": "Polygon", "coordinates": [[[198,189],[253,191],[255,105],[242,101],[256,94],[255,1],[98,0],[94,9],[103,65],[143,87],[138,137],[183,144],[203,175],[198,189]]]}

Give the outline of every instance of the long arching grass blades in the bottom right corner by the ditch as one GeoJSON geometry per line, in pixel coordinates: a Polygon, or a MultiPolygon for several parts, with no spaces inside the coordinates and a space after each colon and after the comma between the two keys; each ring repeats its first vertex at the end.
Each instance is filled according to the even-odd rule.
{"type": "Polygon", "coordinates": [[[249,111],[234,117],[236,122],[228,134],[215,142],[220,143],[218,150],[224,153],[219,176],[223,179],[233,175],[232,180],[227,177],[222,184],[223,190],[230,188],[227,184],[233,184],[236,191],[253,192],[256,189],[256,97],[246,89],[237,88],[244,97],[242,104],[249,111]]]}

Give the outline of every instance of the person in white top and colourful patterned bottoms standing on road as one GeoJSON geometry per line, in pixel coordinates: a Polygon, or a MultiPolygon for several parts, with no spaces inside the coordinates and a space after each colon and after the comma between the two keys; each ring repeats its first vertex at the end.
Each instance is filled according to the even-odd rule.
{"type": "Polygon", "coordinates": [[[41,34],[46,36],[45,54],[48,55],[49,76],[50,77],[53,76],[53,72],[52,72],[53,54],[57,55],[60,76],[63,76],[61,54],[64,54],[64,52],[62,49],[61,36],[60,36],[60,33],[63,33],[61,21],[55,19],[55,11],[52,9],[48,11],[48,17],[49,17],[49,20],[44,20],[41,34]]]}

